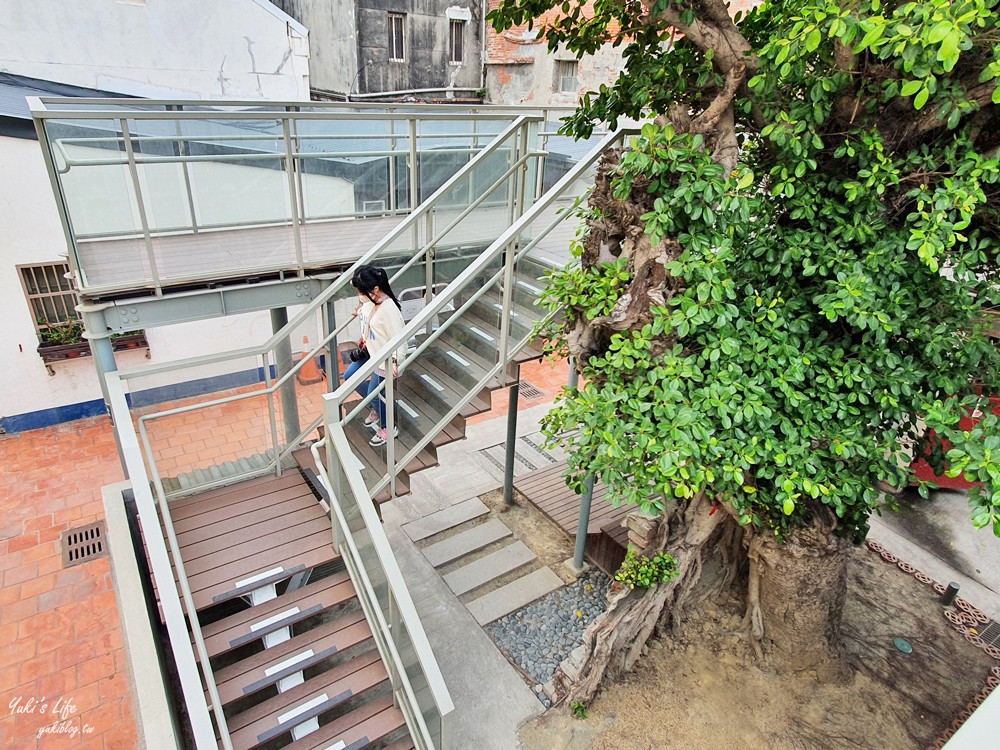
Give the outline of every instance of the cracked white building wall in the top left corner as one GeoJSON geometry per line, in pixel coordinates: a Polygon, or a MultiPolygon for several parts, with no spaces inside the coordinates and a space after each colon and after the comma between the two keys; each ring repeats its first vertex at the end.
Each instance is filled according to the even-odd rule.
{"type": "Polygon", "coordinates": [[[0,70],[151,98],[309,99],[305,29],[266,0],[3,0],[0,70]]]}

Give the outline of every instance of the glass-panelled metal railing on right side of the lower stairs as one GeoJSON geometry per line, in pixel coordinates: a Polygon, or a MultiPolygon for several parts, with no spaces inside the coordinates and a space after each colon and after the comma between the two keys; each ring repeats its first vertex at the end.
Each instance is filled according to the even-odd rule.
{"type": "Polygon", "coordinates": [[[335,547],[372,624],[410,736],[420,750],[441,750],[447,747],[446,728],[454,704],[364,480],[351,465],[343,428],[332,425],[310,452],[329,494],[335,547]],[[320,456],[324,448],[325,456],[335,456],[334,461],[320,456]],[[331,473],[327,465],[339,471],[331,473]]]}

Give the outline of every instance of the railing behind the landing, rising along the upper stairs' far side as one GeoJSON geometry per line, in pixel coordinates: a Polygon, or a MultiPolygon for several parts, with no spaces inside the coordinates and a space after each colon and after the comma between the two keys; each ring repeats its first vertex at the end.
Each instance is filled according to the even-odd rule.
{"type": "MultiPolygon", "coordinates": [[[[190,380],[193,374],[200,371],[222,369],[231,372],[234,368],[250,373],[250,379],[254,381],[244,384],[239,392],[232,395],[214,395],[207,400],[192,399],[169,408],[155,407],[152,411],[144,409],[147,413],[138,415],[137,428],[145,448],[147,465],[150,473],[160,478],[164,472],[158,468],[155,437],[157,423],[163,424],[164,431],[172,434],[179,429],[178,423],[190,422],[193,415],[202,415],[202,421],[211,421],[215,415],[223,413],[237,402],[244,402],[246,406],[251,400],[257,399],[261,404],[255,435],[257,442],[251,443],[246,438],[241,438],[241,441],[246,443],[243,446],[245,458],[266,455],[266,463],[258,462],[257,465],[245,468],[243,472],[225,476],[189,478],[183,486],[165,486],[163,496],[169,499],[181,494],[205,491],[263,473],[280,474],[288,455],[322,423],[322,404],[318,401],[314,404],[312,416],[309,416],[305,427],[301,427],[295,419],[286,417],[290,416],[291,411],[298,411],[297,403],[293,405],[292,401],[305,403],[311,397],[297,385],[301,373],[310,363],[316,364],[325,356],[327,382],[331,386],[336,384],[337,369],[332,361],[336,342],[352,323],[352,319],[345,315],[337,324],[336,316],[330,314],[330,306],[343,297],[344,293],[353,293],[350,280],[354,268],[373,263],[387,266],[392,270],[394,283],[405,278],[416,279],[424,287],[424,303],[430,302],[433,289],[440,288],[454,278],[482,248],[488,247],[503,228],[516,219],[521,206],[527,202],[526,184],[533,178],[531,163],[537,158],[537,152],[530,147],[535,127],[536,118],[518,118],[489,146],[482,149],[463,170],[449,179],[435,196],[418,207],[365,253],[355,266],[331,282],[322,294],[260,346],[121,371],[120,377],[130,386],[133,405],[142,408],[142,386],[145,383],[174,382],[173,379],[181,378],[190,380]],[[494,163],[497,157],[501,162],[499,166],[494,163]],[[489,184],[481,184],[483,171],[488,172],[492,178],[489,184]],[[467,193],[470,184],[475,184],[475,198],[461,210],[452,209],[452,194],[467,193]],[[494,200],[498,195],[503,197],[503,201],[494,200]],[[445,204],[446,210],[439,210],[440,204],[445,204]],[[486,219],[489,221],[485,221],[486,219]],[[463,246],[469,248],[467,252],[456,252],[455,248],[463,246]],[[454,257],[442,257],[446,250],[450,250],[454,257]],[[322,338],[298,362],[290,363],[292,332],[323,312],[327,314],[323,315],[322,338]],[[257,380],[255,373],[259,373],[259,381],[262,382],[257,380]],[[298,391],[296,398],[283,398],[290,390],[298,391]],[[286,428],[284,436],[279,429],[281,425],[286,428]]],[[[222,444],[229,437],[229,433],[224,433],[214,439],[222,444]]],[[[197,454],[191,455],[192,460],[197,458],[197,454]]],[[[202,458],[202,465],[189,465],[187,473],[210,466],[210,461],[210,457],[202,458]]]]}

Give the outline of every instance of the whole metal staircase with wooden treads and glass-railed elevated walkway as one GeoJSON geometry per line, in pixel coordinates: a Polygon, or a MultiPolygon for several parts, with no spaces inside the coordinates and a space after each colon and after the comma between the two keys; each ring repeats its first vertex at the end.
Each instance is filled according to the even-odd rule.
{"type": "MultiPolygon", "coordinates": [[[[600,155],[624,135],[604,138],[544,190],[549,155],[538,148],[537,117],[502,122],[486,138],[475,128],[463,129],[468,118],[461,126],[450,115],[421,115],[451,128],[422,134],[421,118],[385,115],[392,123],[388,133],[379,134],[387,141],[385,152],[373,147],[371,153],[353,148],[345,154],[328,143],[336,140],[331,133],[355,143],[361,134],[344,134],[315,112],[168,113],[134,102],[130,107],[109,114],[84,106],[84,114],[72,121],[65,113],[39,118],[49,137],[45,146],[51,149],[54,184],[63,195],[76,190],[77,197],[62,208],[80,292],[91,303],[99,303],[101,295],[144,290],[151,309],[167,311],[160,322],[169,322],[170,315],[196,319],[175,284],[213,286],[252,280],[258,273],[305,278],[314,262],[316,268],[333,262],[331,256],[311,257],[329,251],[328,242],[351,245],[360,256],[355,266],[381,266],[397,290],[417,295],[403,332],[345,383],[335,360],[339,345],[356,336],[348,331],[350,316],[343,314],[343,305],[356,304],[349,285],[353,268],[328,276],[319,292],[310,289],[301,299],[308,304],[291,319],[262,296],[258,302],[272,310],[274,327],[263,345],[103,372],[196,744],[199,750],[448,747],[453,703],[389,547],[378,503],[404,494],[410,475],[435,465],[438,448],[464,437],[465,420],[489,408],[492,391],[518,381],[519,363],[540,355],[532,343],[543,315],[537,298],[544,274],[569,257],[578,217],[567,209],[585,196],[600,155]],[[101,118],[110,118],[110,124],[98,127],[101,118]],[[234,133],[230,120],[258,132],[234,133]],[[405,156],[392,143],[403,139],[402,131],[392,129],[400,121],[408,133],[405,156]],[[175,132],[164,131],[165,123],[176,125],[175,132]],[[192,123],[216,130],[192,132],[192,123]],[[466,142],[449,147],[455,138],[466,142]],[[315,159],[357,164],[350,160],[373,154],[384,160],[388,202],[360,211],[355,206],[345,221],[315,210],[320,204],[314,197],[333,192],[315,192],[311,178],[343,177],[329,163],[320,169],[315,159]],[[435,163],[447,175],[422,182],[435,163]],[[210,165],[218,174],[206,175],[195,165],[210,165]],[[405,200],[397,190],[402,182],[393,176],[404,167],[405,200]],[[86,214],[82,204],[74,208],[72,202],[82,200],[81,185],[92,183],[74,185],[68,175],[84,170],[107,177],[109,168],[128,176],[119,198],[141,227],[83,231],[71,219],[86,214]],[[260,180],[270,190],[282,185],[288,211],[281,208],[275,217],[260,195],[248,195],[236,208],[256,212],[257,221],[206,222],[212,211],[216,219],[220,215],[222,194],[204,190],[217,178],[227,189],[244,179],[260,180]],[[428,185],[437,189],[420,202],[428,185]],[[147,198],[159,201],[160,208],[147,198]],[[199,203],[202,199],[217,201],[212,211],[206,213],[209,203],[199,203]],[[389,221],[392,228],[370,249],[358,246],[364,244],[362,234],[345,232],[310,244],[317,227],[360,231],[383,220],[382,229],[389,221]],[[106,257],[97,263],[101,253],[86,253],[100,243],[111,244],[104,245],[106,257]],[[126,245],[131,250],[124,251],[126,245]],[[164,254],[167,248],[172,249],[164,254]],[[131,258],[122,257],[130,253],[131,258]],[[117,280],[101,277],[116,270],[112,258],[125,269],[117,280]],[[106,283],[95,284],[96,278],[106,283]],[[339,321],[338,302],[343,303],[339,321]],[[179,306],[171,307],[175,303],[179,306]],[[293,358],[292,339],[310,323],[318,323],[320,341],[293,358]],[[406,351],[399,377],[383,380],[359,401],[356,388],[374,371],[390,371],[388,358],[397,349],[406,351]],[[238,375],[239,386],[173,395],[197,383],[199,375],[219,371],[238,375]],[[388,433],[398,432],[381,444],[369,442],[371,431],[363,424],[373,398],[391,406],[388,433]],[[199,423],[215,424],[234,410],[254,409],[257,418],[229,434],[190,443],[177,439],[199,423]]],[[[372,119],[345,119],[356,124],[365,118],[372,119]]],[[[337,185],[328,181],[324,189],[337,185]]],[[[238,202],[232,193],[228,198],[238,202]]],[[[108,201],[112,208],[113,203],[108,201]]],[[[104,336],[139,322],[126,319],[133,311],[131,304],[125,307],[124,312],[113,305],[84,308],[95,360],[102,366],[104,336]]],[[[511,570],[520,565],[508,564],[515,566],[511,570]]],[[[458,588],[478,585],[481,571],[467,572],[464,584],[453,582],[458,588]]]]}

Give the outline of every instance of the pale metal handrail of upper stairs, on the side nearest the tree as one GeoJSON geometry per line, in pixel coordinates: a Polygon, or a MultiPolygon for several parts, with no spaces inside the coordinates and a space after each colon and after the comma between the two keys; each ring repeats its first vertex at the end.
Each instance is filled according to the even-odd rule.
{"type": "MultiPolygon", "coordinates": [[[[378,394],[385,392],[384,399],[386,403],[392,403],[393,396],[393,379],[385,378],[383,382],[379,385],[377,389],[374,389],[368,394],[366,398],[363,398],[354,408],[348,413],[344,408],[344,404],[347,398],[357,389],[357,387],[363,383],[365,380],[371,377],[372,373],[376,370],[382,369],[385,372],[390,371],[389,357],[395,352],[402,344],[409,341],[415,335],[425,330],[436,316],[441,312],[441,310],[448,304],[450,304],[458,292],[465,289],[470,281],[476,276],[476,274],[482,272],[487,266],[493,262],[493,260],[502,252],[504,252],[508,246],[510,246],[515,238],[517,238],[525,229],[526,226],[536,222],[539,217],[548,210],[551,205],[560,197],[563,193],[576,182],[583,174],[589,169],[600,157],[601,155],[614,144],[619,141],[623,141],[624,138],[635,132],[635,128],[631,126],[621,127],[614,132],[609,133],[601,141],[595,145],[588,154],[577,162],[565,175],[563,175],[559,181],[552,186],[548,191],[545,192],[540,198],[536,199],[526,212],[524,212],[520,218],[518,218],[513,224],[510,225],[501,235],[498,237],[489,248],[484,250],[472,263],[470,263],[461,273],[459,273],[454,280],[452,280],[445,289],[436,294],[431,301],[424,306],[424,308],[416,315],[414,318],[403,328],[402,332],[395,336],[391,341],[386,342],[383,345],[382,351],[386,352],[385,357],[372,357],[363,366],[359,367],[355,373],[345,380],[340,386],[334,390],[332,393],[327,393],[324,395],[324,400],[326,401],[326,407],[324,409],[325,419],[327,422],[327,428],[333,423],[346,424],[351,418],[356,416],[358,412],[365,406],[370,404],[378,394]],[[336,415],[336,417],[334,417],[336,415]]],[[[568,215],[568,213],[567,213],[568,215]]],[[[557,217],[556,221],[552,222],[550,226],[545,230],[545,233],[550,231],[558,223],[561,223],[567,215],[557,217]]],[[[544,237],[544,233],[540,233],[538,236],[534,237],[528,245],[523,248],[523,251],[517,253],[509,253],[508,261],[505,263],[505,269],[512,268],[513,263],[523,257],[524,253],[534,247],[539,240],[544,237]]],[[[494,276],[494,280],[496,276],[494,276]]],[[[488,285],[483,285],[476,296],[480,296],[489,288],[488,285]]],[[[449,320],[442,323],[437,330],[432,332],[429,339],[440,336],[443,330],[447,329],[451,322],[456,320],[457,316],[452,316],[449,320]]],[[[530,336],[522,340],[518,344],[518,348],[524,346],[530,336]]],[[[426,342],[425,342],[426,343],[426,342]]],[[[504,342],[501,342],[501,346],[504,346],[504,342]]],[[[407,352],[406,356],[398,363],[397,369],[400,373],[404,372],[406,367],[412,362],[415,357],[419,356],[425,349],[425,346],[418,347],[414,352],[407,352]]],[[[482,378],[481,382],[470,391],[470,393],[478,393],[483,387],[485,387],[496,374],[503,370],[507,366],[507,359],[516,353],[517,349],[508,350],[505,352],[505,356],[500,358],[496,365],[491,368],[487,375],[482,378]]],[[[451,421],[454,416],[461,410],[464,406],[463,403],[456,404],[449,410],[448,414],[442,418],[438,425],[431,430],[427,430],[421,441],[410,449],[404,458],[396,461],[395,460],[395,450],[394,441],[390,440],[387,443],[387,469],[386,476],[377,483],[373,488],[370,489],[372,495],[376,494],[378,490],[383,489],[387,484],[391,484],[395,480],[396,468],[400,466],[406,466],[407,463],[416,456],[420,450],[433,439],[436,434],[436,429],[443,424],[451,421]]],[[[391,434],[394,429],[394,409],[387,409],[387,430],[391,434]]],[[[393,487],[394,488],[394,487],[393,487]]]]}

